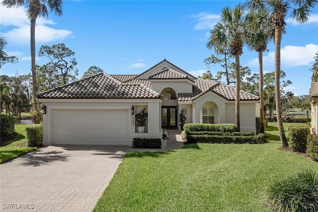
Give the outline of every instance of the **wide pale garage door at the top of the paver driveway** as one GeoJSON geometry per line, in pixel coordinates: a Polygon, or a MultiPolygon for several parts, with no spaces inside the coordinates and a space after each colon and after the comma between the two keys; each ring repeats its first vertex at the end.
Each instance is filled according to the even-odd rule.
{"type": "Polygon", "coordinates": [[[52,110],[53,144],[128,145],[128,110],[52,110]]]}

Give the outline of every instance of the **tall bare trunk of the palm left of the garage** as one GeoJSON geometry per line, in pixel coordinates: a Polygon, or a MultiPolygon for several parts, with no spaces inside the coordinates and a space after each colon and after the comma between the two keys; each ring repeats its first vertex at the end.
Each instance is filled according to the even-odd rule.
{"type": "MultiPolygon", "coordinates": [[[[35,22],[37,14],[31,15],[31,27],[30,27],[30,44],[31,44],[31,71],[32,71],[32,82],[33,82],[33,98],[34,98],[34,110],[39,110],[39,102],[36,97],[38,93],[38,87],[36,82],[36,71],[35,71],[35,22]]],[[[37,124],[37,123],[36,123],[37,124]]]]}

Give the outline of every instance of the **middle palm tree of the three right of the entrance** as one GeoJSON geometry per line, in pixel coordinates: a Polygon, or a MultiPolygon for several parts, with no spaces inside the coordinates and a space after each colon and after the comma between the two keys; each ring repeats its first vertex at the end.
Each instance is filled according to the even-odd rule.
{"type": "Polygon", "coordinates": [[[265,9],[250,11],[246,24],[246,29],[249,29],[246,32],[247,47],[258,52],[260,133],[264,133],[263,52],[267,49],[268,42],[274,38],[275,29],[269,11],[265,9]]]}

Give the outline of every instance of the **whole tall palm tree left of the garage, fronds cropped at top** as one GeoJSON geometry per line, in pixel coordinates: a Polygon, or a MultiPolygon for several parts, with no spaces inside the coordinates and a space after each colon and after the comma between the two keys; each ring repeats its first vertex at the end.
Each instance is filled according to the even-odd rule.
{"type": "Polygon", "coordinates": [[[38,92],[35,70],[35,22],[37,17],[48,17],[49,11],[56,15],[63,15],[62,0],[3,0],[2,5],[6,7],[28,7],[27,16],[30,19],[30,44],[31,44],[31,70],[33,83],[34,110],[39,111],[39,102],[36,98],[38,92]]]}

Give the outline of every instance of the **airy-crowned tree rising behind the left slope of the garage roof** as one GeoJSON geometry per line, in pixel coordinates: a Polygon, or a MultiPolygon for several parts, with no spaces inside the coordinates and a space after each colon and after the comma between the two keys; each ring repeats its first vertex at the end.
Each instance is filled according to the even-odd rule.
{"type": "Polygon", "coordinates": [[[41,46],[39,51],[39,56],[47,57],[50,61],[44,68],[48,72],[53,71],[56,73],[62,84],[68,84],[77,79],[75,75],[78,75],[79,71],[76,68],[78,63],[74,55],[75,53],[67,48],[64,43],[55,44],[52,47],[47,45],[41,46]],[[74,75],[71,74],[72,72],[74,75]]]}

